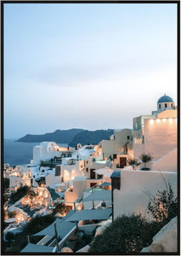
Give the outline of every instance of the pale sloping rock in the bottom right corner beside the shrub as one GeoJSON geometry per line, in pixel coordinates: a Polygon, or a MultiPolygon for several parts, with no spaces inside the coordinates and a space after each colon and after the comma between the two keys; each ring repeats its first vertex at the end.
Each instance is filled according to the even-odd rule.
{"type": "Polygon", "coordinates": [[[153,237],[150,247],[141,253],[177,253],[178,252],[178,218],[173,218],[153,237]]]}

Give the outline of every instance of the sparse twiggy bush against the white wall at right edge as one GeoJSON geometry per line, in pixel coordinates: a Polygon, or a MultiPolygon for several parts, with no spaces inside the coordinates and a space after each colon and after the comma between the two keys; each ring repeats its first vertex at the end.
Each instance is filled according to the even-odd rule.
{"type": "Polygon", "coordinates": [[[167,189],[158,190],[156,196],[150,196],[148,209],[156,222],[167,224],[172,218],[178,215],[178,198],[175,197],[170,183],[166,183],[167,189]]]}

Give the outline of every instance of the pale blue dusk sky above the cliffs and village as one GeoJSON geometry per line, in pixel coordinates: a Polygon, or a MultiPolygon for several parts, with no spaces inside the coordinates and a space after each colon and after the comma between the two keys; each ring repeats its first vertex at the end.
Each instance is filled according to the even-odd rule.
{"type": "Polygon", "coordinates": [[[177,104],[175,3],[6,3],[4,137],[132,128],[177,104]]]}

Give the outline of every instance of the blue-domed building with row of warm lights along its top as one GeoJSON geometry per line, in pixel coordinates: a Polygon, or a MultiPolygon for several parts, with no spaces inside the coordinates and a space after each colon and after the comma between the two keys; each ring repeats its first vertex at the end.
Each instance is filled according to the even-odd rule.
{"type": "Polygon", "coordinates": [[[133,119],[133,156],[151,154],[151,170],[177,172],[177,109],[173,99],[162,96],[157,111],[133,119]]]}

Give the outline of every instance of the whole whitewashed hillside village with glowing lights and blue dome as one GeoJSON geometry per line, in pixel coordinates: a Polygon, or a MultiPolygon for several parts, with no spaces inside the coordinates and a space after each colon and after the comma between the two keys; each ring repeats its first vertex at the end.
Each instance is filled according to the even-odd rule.
{"type": "MultiPolygon", "coordinates": [[[[11,244],[10,233],[16,236],[32,218],[54,213],[54,222],[28,236],[20,252],[87,253],[93,238],[116,218],[148,212],[148,193],[156,195],[169,183],[177,196],[177,107],[166,95],[156,107],[134,117],[133,129],[114,130],[110,139],[96,145],[62,148],[42,142],[33,148],[30,163],[4,164],[3,177],[9,183],[4,191],[3,240],[11,244]],[[28,188],[26,194],[12,200],[23,188],[28,188]],[[41,239],[32,242],[34,236],[41,239]]],[[[147,218],[153,219],[149,212],[147,218]]],[[[176,252],[177,238],[171,235],[169,241],[175,246],[161,244],[163,251],[158,252],[176,252]]]]}

